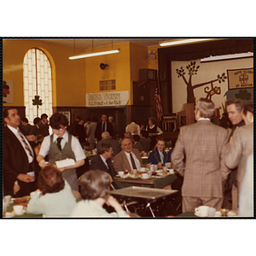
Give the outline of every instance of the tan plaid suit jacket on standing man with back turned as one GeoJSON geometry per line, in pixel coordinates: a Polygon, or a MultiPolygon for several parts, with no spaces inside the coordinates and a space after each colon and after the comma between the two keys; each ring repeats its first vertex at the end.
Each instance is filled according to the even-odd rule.
{"type": "Polygon", "coordinates": [[[230,170],[224,164],[228,132],[201,120],[181,127],[172,164],[183,176],[183,196],[223,197],[223,183],[230,170]]]}

